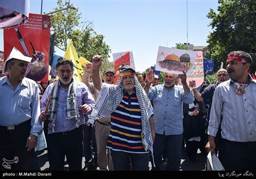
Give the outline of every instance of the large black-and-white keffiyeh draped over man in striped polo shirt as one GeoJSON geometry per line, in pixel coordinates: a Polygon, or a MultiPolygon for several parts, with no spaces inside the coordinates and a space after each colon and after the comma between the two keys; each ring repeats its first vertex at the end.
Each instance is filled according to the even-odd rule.
{"type": "MultiPolygon", "coordinates": [[[[98,98],[96,100],[95,107],[93,108],[92,114],[90,116],[89,122],[94,123],[94,120],[99,118],[104,118],[116,109],[118,104],[122,102],[124,96],[124,86],[122,85],[123,77],[118,79],[118,85],[114,84],[102,84],[108,85],[109,88],[101,88],[99,91],[98,98]]],[[[150,151],[153,154],[153,141],[152,133],[150,128],[149,118],[153,114],[153,107],[150,100],[147,97],[144,89],[142,88],[137,77],[134,75],[136,95],[138,98],[138,103],[141,108],[141,125],[142,125],[142,141],[143,146],[146,151],[150,151]]]]}

